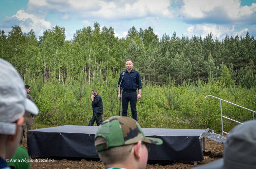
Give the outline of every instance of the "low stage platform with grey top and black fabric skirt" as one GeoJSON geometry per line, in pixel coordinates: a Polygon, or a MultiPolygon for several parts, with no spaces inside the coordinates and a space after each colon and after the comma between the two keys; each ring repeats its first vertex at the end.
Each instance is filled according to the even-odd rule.
{"type": "MultiPolygon", "coordinates": [[[[98,127],[59,126],[27,131],[30,156],[99,158],[94,147],[98,127]]],[[[163,140],[152,145],[149,160],[202,161],[205,130],[142,128],[149,137],[163,140]]]]}

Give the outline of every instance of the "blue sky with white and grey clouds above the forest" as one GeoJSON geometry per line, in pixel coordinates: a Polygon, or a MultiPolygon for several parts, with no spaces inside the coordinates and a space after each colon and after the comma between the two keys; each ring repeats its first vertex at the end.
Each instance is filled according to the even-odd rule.
{"type": "Polygon", "coordinates": [[[244,36],[256,37],[256,0],[1,0],[0,29],[6,35],[19,25],[36,36],[58,25],[66,28],[66,39],[77,29],[112,26],[115,36],[125,37],[129,28],[151,26],[158,38],[164,33],[189,38],[244,36]]]}

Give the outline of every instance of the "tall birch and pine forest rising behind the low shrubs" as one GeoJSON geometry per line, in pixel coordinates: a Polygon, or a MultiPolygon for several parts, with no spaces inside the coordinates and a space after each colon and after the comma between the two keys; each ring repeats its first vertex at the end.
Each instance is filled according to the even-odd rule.
{"type": "Polygon", "coordinates": [[[114,28],[97,22],[77,29],[69,41],[65,28],[57,25],[39,39],[33,30],[23,33],[18,25],[7,36],[0,32],[1,58],[12,63],[22,77],[42,73],[45,82],[53,77],[64,84],[69,77],[77,80],[83,74],[84,83],[90,84],[97,72],[107,80],[131,59],[147,84],[168,85],[170,79],[181,86],[184,81],[207,82],[209,74],[224,80],[226,65],[236,85],[255,86],[256,40],[248,32],[245,37],[226,35],[219,40],[211,32],[204,38],[194,35],[189,39],[185,35],[179,38],[174,31],[171,37],[164,34],[158,39],[152,27],[137,30],[132,26],[120,38],[115,37],[114,28]]]}

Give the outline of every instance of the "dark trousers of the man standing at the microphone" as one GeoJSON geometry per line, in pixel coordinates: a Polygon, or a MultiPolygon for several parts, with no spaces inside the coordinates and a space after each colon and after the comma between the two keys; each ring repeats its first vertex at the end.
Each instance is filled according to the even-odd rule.
{"type": "Polygon", "coordinates": [[[131,113],[132,118],[136,121],[138,121],[137,117],[137,110],[136,110],[136,104],[137,104],[137,92],[122,92],[122,116],[127,116],[127,110],[128,110],[128,103],[130,102],[131,107],[131,113]]]}

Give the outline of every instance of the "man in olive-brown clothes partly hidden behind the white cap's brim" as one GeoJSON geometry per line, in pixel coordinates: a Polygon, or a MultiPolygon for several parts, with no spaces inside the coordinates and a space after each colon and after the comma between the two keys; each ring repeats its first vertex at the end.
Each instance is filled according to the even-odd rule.
{"type": "MultiPolygon", "coordinates": [[[[26,89],[26,93],[27,93],[27,98],[30,99],[32,102],[34,102],[32,96],[29,94],[30,93],[30,86],[25,85],[25,89],[26,89]]],[[[32,129],[34,118],[35,118],[34,114],[30,113],[29,111],[25,111],[25,121],[26,121],[27,130],[32,129]]],[[[23,128],[23,131],[22,131],[20,144],[22,144],[22,136],[25,137],[25,127],[23,128]]]]}

